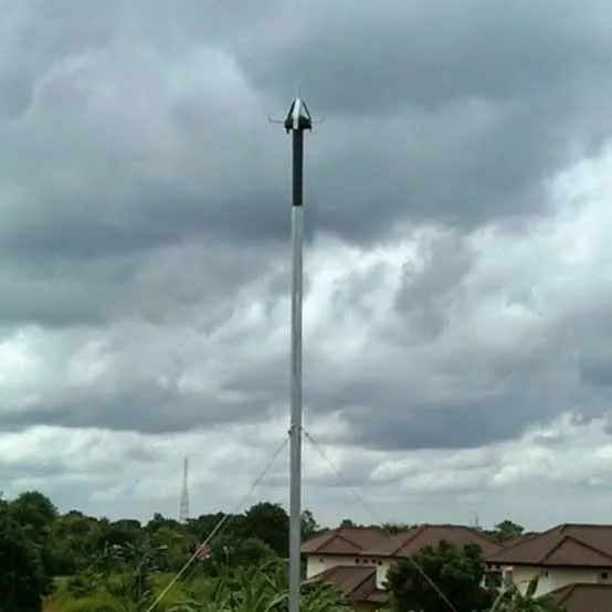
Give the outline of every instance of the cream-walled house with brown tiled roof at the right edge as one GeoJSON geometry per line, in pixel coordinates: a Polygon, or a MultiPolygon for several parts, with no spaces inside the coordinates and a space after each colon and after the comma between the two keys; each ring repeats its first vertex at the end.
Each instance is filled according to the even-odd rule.
{"type": "Polygon", "coordinates": [[[536,597],[571,584],[612,584],[612,525],[558,525],[485,560],[489,570],[502,571],[521,592],[539,577],[536,597]]]}

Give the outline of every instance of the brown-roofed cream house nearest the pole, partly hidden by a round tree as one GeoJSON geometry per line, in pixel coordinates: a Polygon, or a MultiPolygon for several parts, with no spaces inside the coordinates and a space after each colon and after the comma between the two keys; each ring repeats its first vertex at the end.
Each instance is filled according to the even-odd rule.
{"type": "Polygon", "coordinates": [[[378,610],[388,600],[384,582],[391,564],[443,540],[478,545],[483,555],[502,548],[477,529],[461,525],[421,525],[394,536],[379,528],[340,528],[304,545],[306,576],[340,589],[357,610],[378,610]]]}

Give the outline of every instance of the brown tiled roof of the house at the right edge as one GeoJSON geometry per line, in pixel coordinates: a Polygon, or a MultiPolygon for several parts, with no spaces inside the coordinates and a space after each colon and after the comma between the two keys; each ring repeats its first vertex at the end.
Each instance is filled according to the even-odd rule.
{"type": "Polygon", "coordinates": [[[486,557],[488,563],[612,568],[612,525],[563,524],[486,557]]]}

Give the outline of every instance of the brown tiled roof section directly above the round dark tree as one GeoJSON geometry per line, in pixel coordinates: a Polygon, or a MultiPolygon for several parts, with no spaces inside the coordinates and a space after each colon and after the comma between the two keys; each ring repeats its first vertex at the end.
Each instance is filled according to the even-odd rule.
{"type": "Polygon", "coordinates": [[[441,541],[456,546],[478,545],[488,556],[503,547],[493,538],[472,527],[463,525],[421,525],[404,534],[388,537],[386,541],[360,555],[367,557],[409,557],[428,546],[436,547],[441,541]]]}

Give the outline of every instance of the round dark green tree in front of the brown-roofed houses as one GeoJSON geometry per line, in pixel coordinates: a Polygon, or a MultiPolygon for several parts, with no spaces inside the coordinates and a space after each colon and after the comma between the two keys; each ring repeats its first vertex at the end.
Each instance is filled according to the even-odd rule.
{"type": "Polygon", "coordinates": [[[387,587],[398,612],[449,612],[449,601],[456,612],[476,612],[488,610],[493,601],[492,593],[481,587],[484,576],[481,547],[442,541],[392,566],[387,587]]]}

